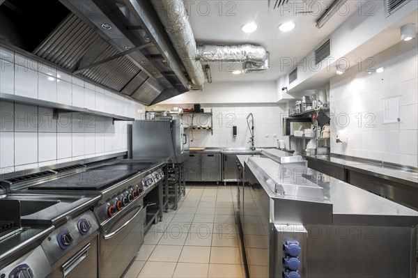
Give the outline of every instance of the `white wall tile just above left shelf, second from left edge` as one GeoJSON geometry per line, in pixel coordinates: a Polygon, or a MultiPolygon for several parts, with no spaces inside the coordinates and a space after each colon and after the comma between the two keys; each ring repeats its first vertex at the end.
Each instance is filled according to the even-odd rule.
{"type": "Polygon", "coordinates": [[[38,98],[38,72],[15,65],[15,95],[38,98]]]}

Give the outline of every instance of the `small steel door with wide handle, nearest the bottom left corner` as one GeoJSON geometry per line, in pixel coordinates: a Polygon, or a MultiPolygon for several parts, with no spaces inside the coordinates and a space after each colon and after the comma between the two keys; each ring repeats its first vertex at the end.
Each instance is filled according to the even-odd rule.
{"type": "Polygon", "coordinates": [[[47,278],[98,277],[98,233],[93,233],[52,265],[47,278]]]}

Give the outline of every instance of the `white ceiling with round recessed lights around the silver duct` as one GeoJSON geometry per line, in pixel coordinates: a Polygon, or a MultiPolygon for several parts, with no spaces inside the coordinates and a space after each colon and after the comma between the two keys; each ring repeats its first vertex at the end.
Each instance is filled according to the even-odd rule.
{"type": "Polygon", "coordinates": [[[341,14],[336,13],[323,28],[317,29],[318,17],[332,1],[315,1],[315,5],[309,5],[309,1],[290,0],[289,5],[283,9],[273,9],[275,1],[271,2],[268,9],[268,0],[185,1],[198,45],[252,43],[261,45],[270,52],[270,70],[261,74],[233,75],[233,70],[242,69],[241,63],[210,63],[213,82],[276,80],[293,69],[293,66],[281,68],[281,57],[290,57],[297,61],[302,59],[355,13],[359,3],[347,1],[347,13],[342,15],[341,8],[341,14]],[[313,13],[300,13],[309,10],[313,13]],[[288,21],[295,22],[293,31],[282,33],[277,29],[279,24],[288,21]],[[258,25],[254,33],[241,31],[241,26],[248,22],[258,25]]]}

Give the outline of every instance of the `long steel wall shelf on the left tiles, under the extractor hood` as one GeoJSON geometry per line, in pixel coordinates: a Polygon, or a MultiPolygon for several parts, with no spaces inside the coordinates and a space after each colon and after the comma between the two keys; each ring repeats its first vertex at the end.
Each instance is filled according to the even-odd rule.
{"type": "Polygon", "coordinates": [[[0,93],[0,100],[13,101],[24,105],[37,105],[38,107],[47,107],[54,109],[53,118],[58,119],[61,113],[83,113],[106,118],[113,118],[114,121],[135,121],[134,118],[128,118],[116,114],[104,113],[87,108],[75,107],[72,105],[63,105],[61,103],[50,102],[47,100],[37,100],[35,98],[26,98],[21,95],[11,95],[10,93],[0,93]]]}

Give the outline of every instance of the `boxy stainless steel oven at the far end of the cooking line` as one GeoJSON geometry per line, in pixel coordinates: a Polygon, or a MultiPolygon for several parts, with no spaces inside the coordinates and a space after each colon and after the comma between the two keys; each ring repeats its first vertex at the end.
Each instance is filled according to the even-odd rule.
{"type": "Polygon", "coordinates": [[[162,159],[173,163],[185,160],[187,134],[183,121],[134,121],[132,123],[132,158],[162,159]]]}

